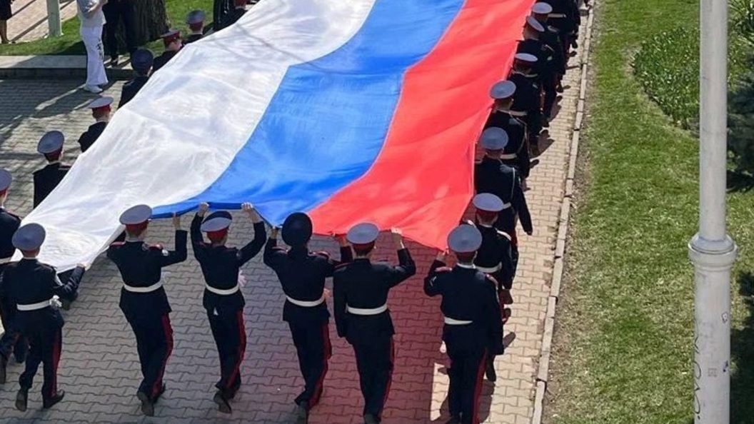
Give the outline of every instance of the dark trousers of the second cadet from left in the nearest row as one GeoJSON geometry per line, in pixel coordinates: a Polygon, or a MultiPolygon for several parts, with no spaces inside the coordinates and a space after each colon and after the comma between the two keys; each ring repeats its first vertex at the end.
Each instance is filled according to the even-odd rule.
{"type": "Polygon", "coordinates": [[[136,350],[139,352],[143,379],[139,392],[145,393],[155,401],[162,389],[162,377],[165,374],[167,358],[173,352],[173,327],[167,314],[155,315],[153,320],[133,320],[126,314],[133,334],[136,336],[136,350]]]}

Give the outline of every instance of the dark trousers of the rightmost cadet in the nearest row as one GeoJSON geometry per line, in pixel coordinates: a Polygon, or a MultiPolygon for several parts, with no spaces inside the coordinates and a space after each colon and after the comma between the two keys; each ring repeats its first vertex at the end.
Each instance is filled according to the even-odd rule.
{"type": "Polygon", "coordinates": [[[450,358],[448,409],[461,424],[479,424],[479,395],[485,370],[486,349],[467,343],[446,343],[450,358]]]}

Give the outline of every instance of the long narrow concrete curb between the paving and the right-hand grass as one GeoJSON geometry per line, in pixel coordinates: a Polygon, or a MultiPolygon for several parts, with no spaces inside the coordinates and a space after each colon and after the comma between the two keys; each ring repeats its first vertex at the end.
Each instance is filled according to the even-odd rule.
{"type": "Polygon", "coordinates": [[[579,87],[578,104],[574,120],[573,134],[571,139],[571,152],[569,155],[568,175],[566,187],[563,193],[560,208],[560,224],[555,244],[553,278],[550,282],[550,298],[547,302],[547,313],[544,318],[544,332],[542,333],[542,348],[536,377],[536,392],[534,397],[534,415],[532,424],[541,424],[544,413],[544,395],[547,393],[547,381],[550,373],[550,353],[553,349],[553,332],[555,329],[555,312],[560,296],[560,287],[563,277],[563,257],[566,255],[566,235],[568,234],[569,217],[571,213],[571,198],[573,196],[574,178],[576,175],[576,161],[578,159],[578,143],[581,138],[581,126],[584,123],[584,102],[587,97],[587,72],[589,66],[589,52],[592,39],[592,26],[594,23],[594,3],[587,12],[587,22],[582,23],[585,30],[581,47],[581,85],[579,87]]]}

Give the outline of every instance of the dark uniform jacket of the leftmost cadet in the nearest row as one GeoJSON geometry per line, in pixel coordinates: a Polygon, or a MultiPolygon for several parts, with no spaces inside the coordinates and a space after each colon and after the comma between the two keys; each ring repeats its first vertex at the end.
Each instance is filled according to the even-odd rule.
{"type": "MultiPolygon", "coordinates": [[[[83,276],[84,269],[78,267],[71,273],[68,281],[61,284],[52,266],[35,259],[23,259],[5,266],[0,277],[2,278],[0,287],[3,292],[0,296],[14,306],[47,302],[54,295],[60,298],[70,298],[78,290],[78,283],[83,276]]],[[[22,333],[41,327],[51,329],[63,327],[63,315],[51,306],[34,311],[17,310],[14,316],[14,327],[22,333]]]]}

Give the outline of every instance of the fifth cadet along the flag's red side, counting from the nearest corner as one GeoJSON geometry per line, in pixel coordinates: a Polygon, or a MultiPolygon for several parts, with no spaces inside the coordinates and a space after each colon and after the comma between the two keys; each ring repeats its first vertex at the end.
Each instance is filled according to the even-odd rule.
{"type": "Polygon", "coordinates": [[[508,81],[516,84],[510,110],[526,122],[529,146],[535,151],[538,150],[539,133],[542,131],[542,88],[539,76],[533,68],[537,61],[533,54],[518,53],[513,60],[513,69],[508,75],[508,81]]]}

